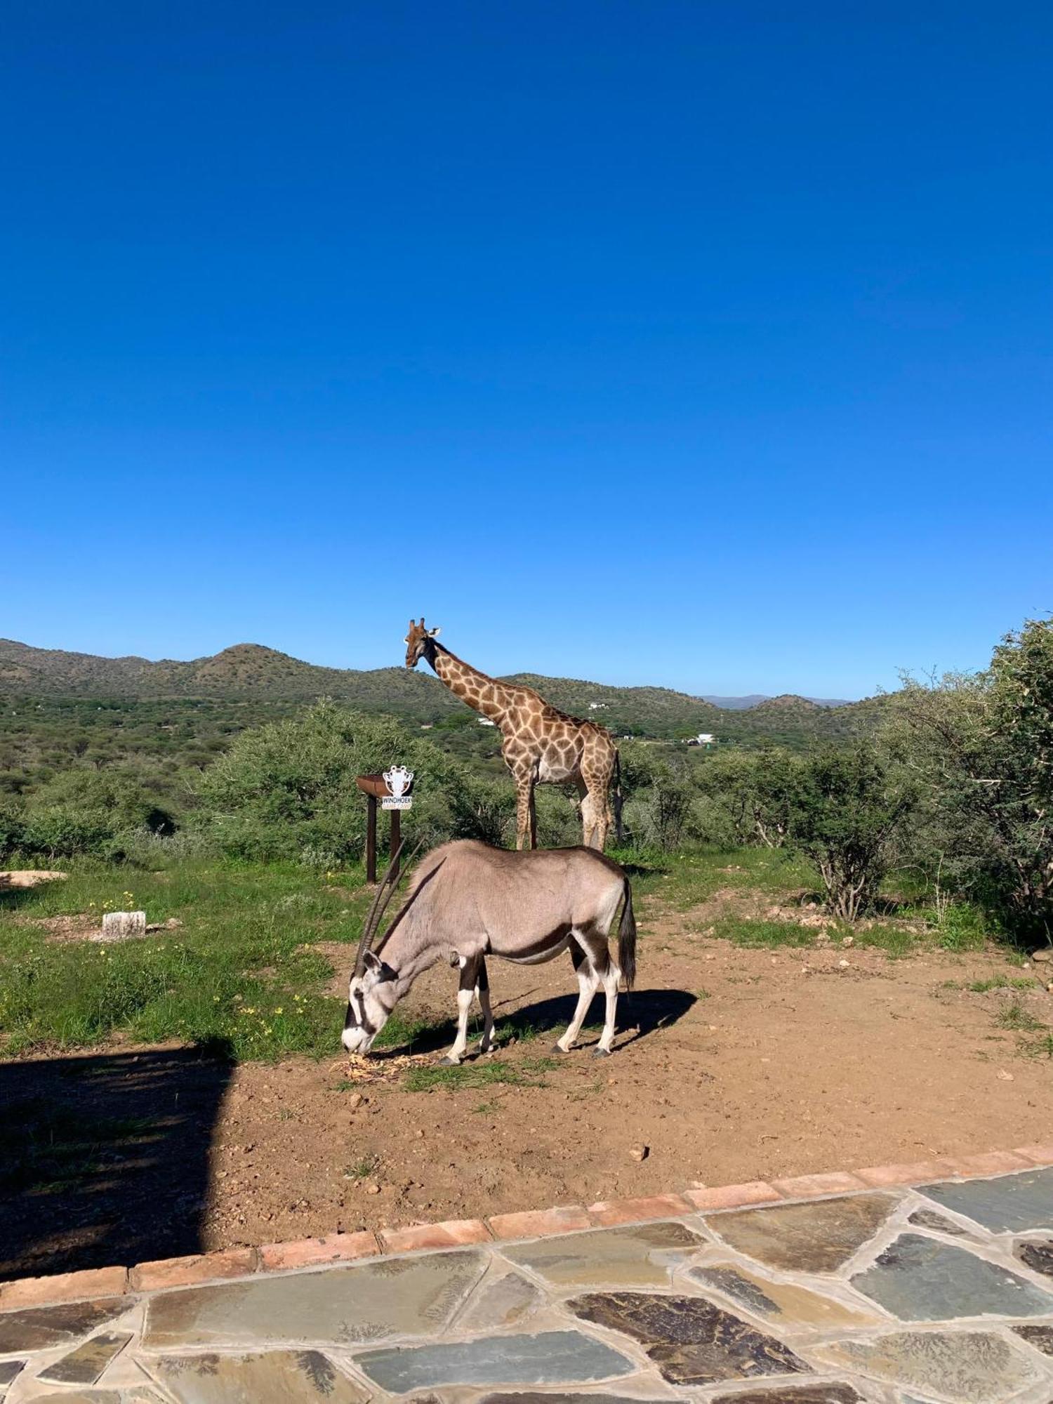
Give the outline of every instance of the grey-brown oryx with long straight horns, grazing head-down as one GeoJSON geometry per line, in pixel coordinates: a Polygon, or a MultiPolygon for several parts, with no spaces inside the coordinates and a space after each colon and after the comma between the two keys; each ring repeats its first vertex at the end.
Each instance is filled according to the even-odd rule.
{"type": "Polygon", "coordinates": [[[594,1052],[611,1052],[618,981],[623,977],[626,988],[632,988],[636,976],[632,887],[612,859],[595,848],[510,852],[472,838],[442,844],[420,861],[397,915],[371,949],[393,892],[389,868],[362,927],[348,984],[343,1043],[350,1053],[369,1052],[399,1000],[438,960],[461,967],[458,1036],[444,1061],[459,1063],[468,1049],[473,995],[483,1011],[480,1052],[489,1053],[494,1021],[486,956],[538,965],[567,949],[577,973],[578,1001],[553,1052],[570,1052],[600,984],[607,995],[607,1018],[594,1052]],[[607,938],[622,899],[615,963],[607,938]]]}

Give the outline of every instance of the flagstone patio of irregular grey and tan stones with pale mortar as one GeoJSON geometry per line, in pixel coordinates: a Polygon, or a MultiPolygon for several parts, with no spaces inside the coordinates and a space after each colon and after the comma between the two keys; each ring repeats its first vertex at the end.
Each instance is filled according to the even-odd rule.
{"type": "Polygon", "coordinates": [[[0,1400],[1052,1404],[1053,1167],[882,1170],[8,1283],[0,1400]]]}

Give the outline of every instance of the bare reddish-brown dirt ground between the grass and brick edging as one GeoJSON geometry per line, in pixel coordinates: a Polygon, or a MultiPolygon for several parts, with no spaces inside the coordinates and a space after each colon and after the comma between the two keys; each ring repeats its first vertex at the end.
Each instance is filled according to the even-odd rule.
{"type": "MultiPolygon", "coordinates": [[[[609,1059],[591,1056],[594,1028],[580,1050],[538,1067],[573,1007],[569,958],[493,963],[498,1019],[522,1011],[538,1031],[494,1057],[542,1085],[407,1091],[407,1073],[441,1057],[437,1042],[411,1059],[393,1050],[230,1067],[222,1085],[209,1081],[208,1095],[198,1071],[180,1109],[180,1084],[164,1061],[177,1050],[62,1060],[63,1087],[81,1111],[93,1084],[79,1068],[91,1066],[98,1095],[119,1113],[142,1120],[150,1108],[150,1134],[131,1136],[122,1154],[139,1170],[124,1168],[118,1154],[83,1223],[60,1195],[49,1202],[27,1186],[32,1202],[15,1196],[8,1223],[28,1213],[35,1230],[32,1243],[22,1233],[0,1244],[0,1276],[1008,1148],[1039,1140],[1053,1123],[1050,1060],[1024,1052],[1038,1025],[1053,1024],[1053,995],[1039,983],[966,988],[1049,967],[1014,969],[997,951],[893,960],[840,945],[743,949],[692,934],[696,925],[691,914],[649,924],[637,990],[619,1004],[609,1059]],[[1033,1021],[1029,1033],[1019,1012],[1008,1019],[1018,1026],[1004,1026],[1014,1005],[1033,1021]],[[160,1064],[147,1073],[152,1057],[160,1064]],[[154,1088],[154,1101],[125,1105],[129,1078],[140,1092],[154,1088]],[[170,1101],[159,1101],[163,1088],[170,1101]],[[161,1105],[171,1115],[159,1116],[161,1105]],[[194,1155],[199,1165],[187,1172],[194,1155]],[[129,1230],[136,1195],[143,1233],[129,1230]],[[111,1219],[124,1214],[125,1247],[108,1202],[119,1206],[111,1219]],[[171,1210],[163,1243],[159,1202],[171,1210]],[[157,1250],[143,1252],[150,1233],[157,1250]]],[[[446,1016],[453,991],[455,974],[437,967],[407,1005],[446,1016]]],[[[53,1067],[13,1067],[20,1095],[39,1099],[34,1070],[44,1077],[53,1067]]]]}

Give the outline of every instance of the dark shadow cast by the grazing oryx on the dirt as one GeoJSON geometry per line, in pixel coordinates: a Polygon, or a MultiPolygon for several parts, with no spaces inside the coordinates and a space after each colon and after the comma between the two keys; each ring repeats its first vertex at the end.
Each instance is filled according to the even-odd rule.
{"type": "MultiPolygon", "coordinates": [[[[636,1039],[664,1029],[678,1019],[682,1019],[698,997],[687,990],[633,990],[630,994],[618,995],[618,1032],[615,1035],[615,1050],[636,1039]]],[[[570,1024],[577,1005],[577,994],[560,994],[550,1000],[539,1000],[538,1004],[526,1004],[514,1014],[504,1014],[500,1001],[494,1002],[494,1026],[498,1047],[510,1039],[542,1036],[548,1033],[559,1035],[570,1024]]],[[[479,1033],[476,1025],[482,1025],[479,1011],[475,1011],[475,1021],[470,1029],[479,1033]]],[[[598,993],[592,1000],[592,1007],[585,1015],[583,1026],[583,1043],[594,1042],[591,1032],[600,1029],[604,1022],[604,995],[598,993]]],[[[456,1021],[444,1019],[418,1029],[407,1045],[375,1050],[375,1057],[385,1057],[399,1053],[434,1053],[438,1049],[448,1049],[456,1033],[456,1021]]]]}

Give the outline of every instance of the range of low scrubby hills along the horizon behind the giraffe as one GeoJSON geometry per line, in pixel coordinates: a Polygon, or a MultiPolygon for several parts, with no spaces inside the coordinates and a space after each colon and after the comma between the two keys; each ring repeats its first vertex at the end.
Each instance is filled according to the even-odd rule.
{"type": "MultiPolygon", "coordinates": [[[[873,724],[880,699],[854,703],[816,702],[799,696],[724,699],[670,688],[618,688],[578,678],[514,674],[510,682],[536,688],[555,706],[592,717],[618,736],[685,737],[712,731],[722,741],[788,746],[849,734],[873,724]],[[748,701],[748,708],[743,706],[748,701]]],[[[366,712],[386,712],[406,722],[444,722],[463,712],[461,703],[425,665],[392,668],[324,668],[257,643],[239,643],[213,657],[177,661],[102,658],[59,649],[34,649],[0,640],[0,694],[76,699],[225,699],[307,702],[330,696],[366,712]]]]}

